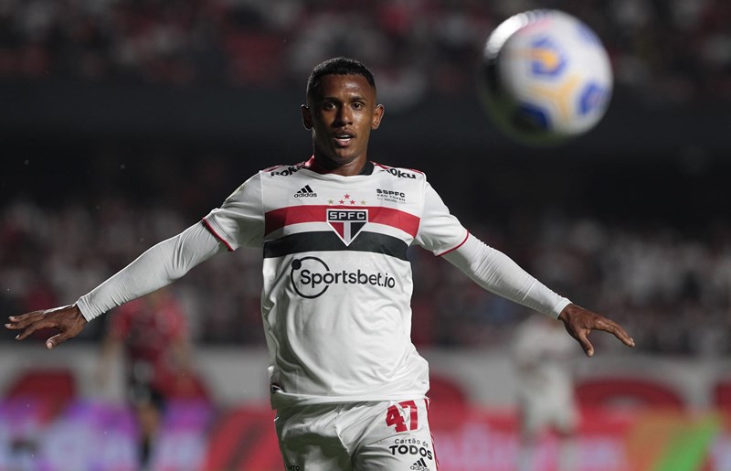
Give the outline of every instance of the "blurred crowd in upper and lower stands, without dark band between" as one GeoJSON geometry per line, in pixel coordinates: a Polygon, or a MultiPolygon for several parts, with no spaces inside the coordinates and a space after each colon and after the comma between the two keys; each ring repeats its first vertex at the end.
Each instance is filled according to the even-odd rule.
{"type": "MultiPolygon", "coordinates": [[[[0,0],[0,84],[69,80],[301,90],[316,60],[346,54],[376,71],[379,94],[392,111],[427,92],[472,93],[472,65],[488,32],[535,7],[563,9],[593,27],[609,49],[618,86],[630,96],[731,100],[727,0],[0,0]],[[318,27],[323,24],[329,27],[318,27]]],[[[94,202],[81,195],[51,205],[21,193],[5,198],[0,311],[71,303],[220,203],[176,185],[185,178],[172,171],[165,167],[156,175],[166,178],[146,182],[145,195],[157,190],[148,200],[113,192],[94,202]],[[175,204],[164,195],[175,195],[175,204]]],[[[90,172],[103,186],[102,166],[90,172]]],[[[196,180],[217,188],[209,197],[221,198],[220,188],[231,189],[220,181],[226,172],[208,160],[196,180]]],[[[695,237],[668,226],[546,219],[525,241],[500,224],[463,222],[556,291],[620,322],[640,349],[687,355],[729,350],[731,228],[724,224],[695,237]]],[[[502,345],[524,317],[522,308],[483,293],[448,263],[420,250],[411,257],[418,344],[502,345]],[[460,322],[454,322],[457,316],[460,322]]],[[[252,251],[216,257],[175,284],[194,339],[263,342],[260,284],[260,253],[252,251]],[[229,280],[238,281],[231,286],[229,280]]],[[[99,339],[103,322],[83,335],[99,339]]]]}

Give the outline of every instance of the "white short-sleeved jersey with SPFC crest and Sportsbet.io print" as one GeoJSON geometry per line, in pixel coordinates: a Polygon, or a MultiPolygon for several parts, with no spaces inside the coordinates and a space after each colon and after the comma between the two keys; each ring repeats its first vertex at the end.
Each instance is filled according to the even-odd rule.
{"type": "Polygon", "coordinates": [[[263,248],[275,408],[425,397],[428,365],[410,339],[407,249],[440,255],[468,232],[422,173],[369,163],[343,177],[276,166],[204,221],[231,251],[263,248]]]}

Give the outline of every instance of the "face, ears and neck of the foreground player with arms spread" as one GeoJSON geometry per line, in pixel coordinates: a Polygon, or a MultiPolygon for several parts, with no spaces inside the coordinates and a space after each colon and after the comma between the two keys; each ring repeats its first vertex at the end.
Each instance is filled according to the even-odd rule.
{"type": "Polygon", "coordinates": [[[382,116],[376,90],[360,75],[323,76],[302,106],[302,122],[313,131],[315,160],[345,175],[365,165],[368,138],[382,116]]]}

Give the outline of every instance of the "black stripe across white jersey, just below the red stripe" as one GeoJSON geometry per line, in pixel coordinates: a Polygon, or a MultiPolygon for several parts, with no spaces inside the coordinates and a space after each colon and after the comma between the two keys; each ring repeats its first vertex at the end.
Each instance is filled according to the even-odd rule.
{"type": "Polygon", "coordinates": [[[345,245],[332,230],[291,234],[264,244],[264,258],[302,252],[374,252],[407,261],[408,245],[396,237],[362,231],[345,245]]]}

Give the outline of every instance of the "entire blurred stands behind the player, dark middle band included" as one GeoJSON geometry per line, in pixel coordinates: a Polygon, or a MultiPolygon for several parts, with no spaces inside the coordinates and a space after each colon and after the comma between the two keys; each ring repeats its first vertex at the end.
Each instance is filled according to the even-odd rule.
{"type": "MultiPolygon", "coordinates": [[[[376,161],[425,170],[472,232],[641,350],[726,354],[731,145],[708,123],[731,130],[729,25],[726,0],[0,0],[0,312],[72,303],[258,169],[306,159],[306,77],[342,54],[376,71],[376,161]],[[599,129],[547,150],[474,104],[485,38],[535,7],[593,27],[616,80],[599,129]]],[[[500,346],[526,315],[410,255],[418,345],[500,346]]],[[[194,340],[261,344],[260,283],[240,251],[175,284],[194,340]]]]}

